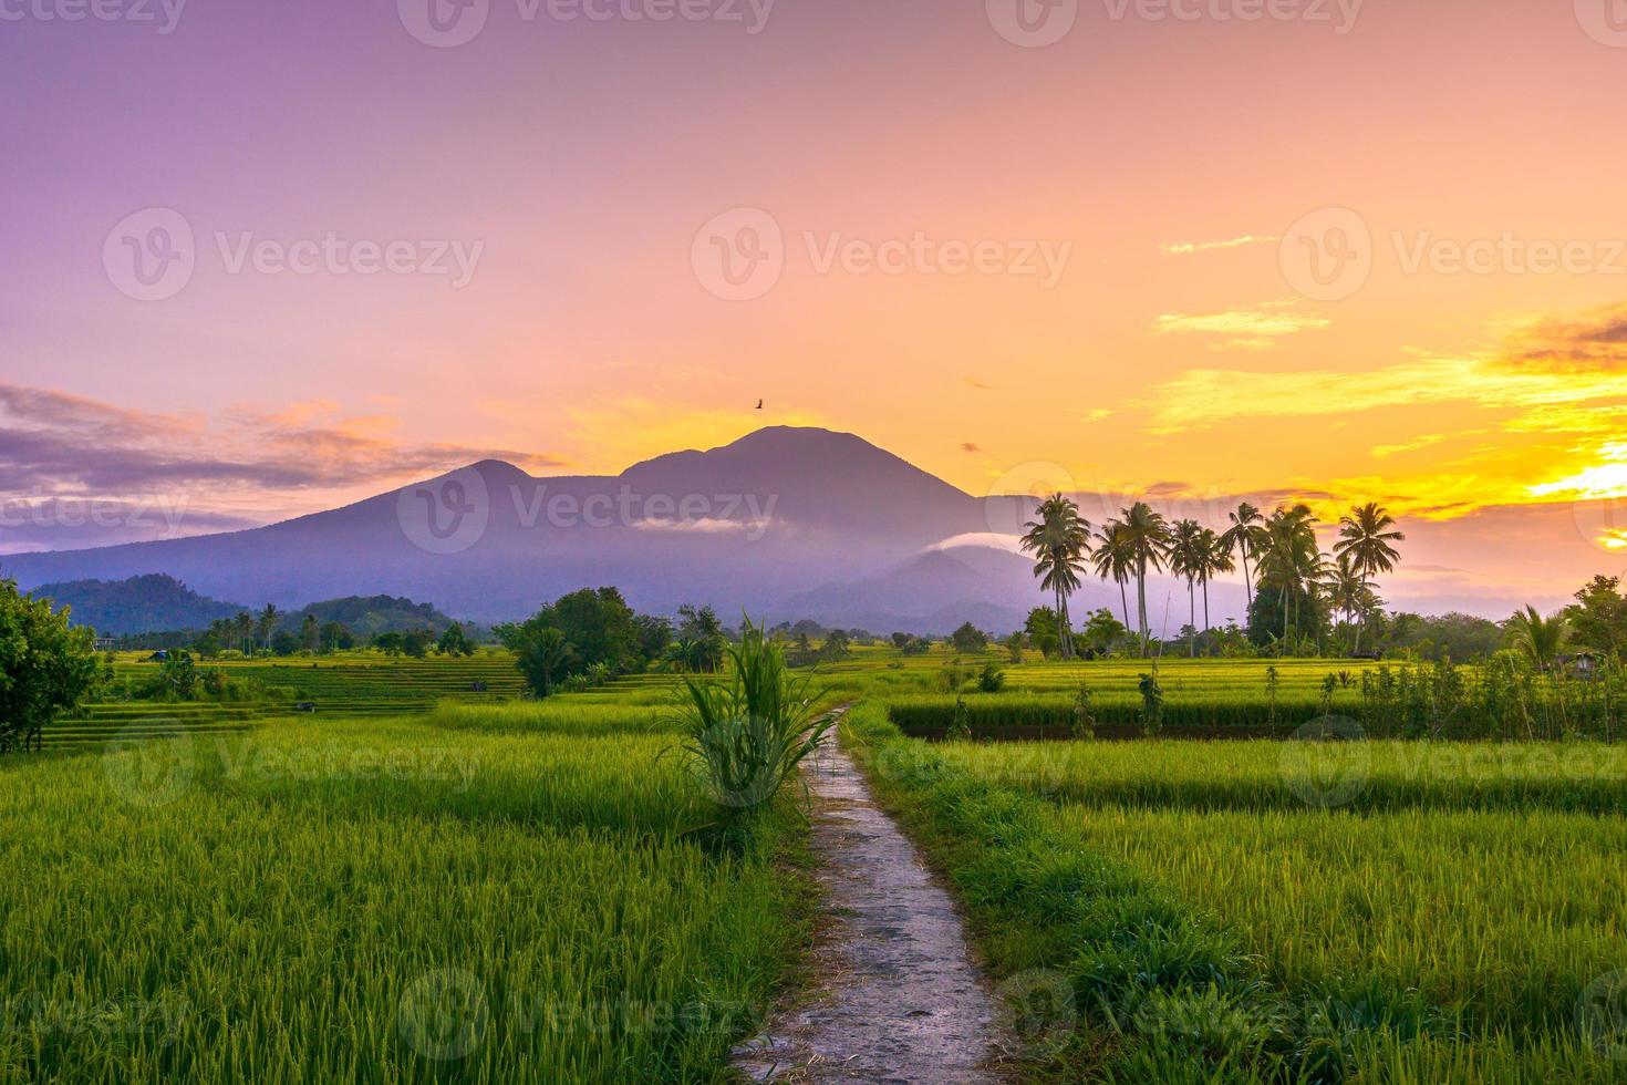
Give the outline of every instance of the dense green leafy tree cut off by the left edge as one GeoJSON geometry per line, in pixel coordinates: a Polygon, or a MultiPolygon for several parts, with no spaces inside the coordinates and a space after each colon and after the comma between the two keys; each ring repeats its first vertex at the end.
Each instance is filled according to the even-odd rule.
{"type": "Polygon", "coordinates": [[[68,613],[0,581],[0,753],[39,748],[46,727],[96,688],[96,631],[68,613]]]}

